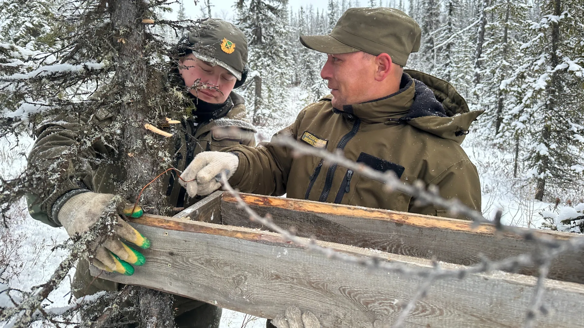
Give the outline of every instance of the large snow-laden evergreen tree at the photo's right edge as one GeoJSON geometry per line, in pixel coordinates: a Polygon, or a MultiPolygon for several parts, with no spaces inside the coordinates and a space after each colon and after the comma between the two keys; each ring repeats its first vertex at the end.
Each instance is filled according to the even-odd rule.
{"type": "Polygon", "coordinates": [[[522,65],[513,74],[524,96],[506,123],[529,138],[524,159],[537,182],[535,197],[543,200],[554,188],[573,186],[584,171],[584,110],[578,100],[584,96],[584,8],[579,1],[549,0],[537,9],[541,19],[527,21],[531,40],[520,47],[522,65]]]}

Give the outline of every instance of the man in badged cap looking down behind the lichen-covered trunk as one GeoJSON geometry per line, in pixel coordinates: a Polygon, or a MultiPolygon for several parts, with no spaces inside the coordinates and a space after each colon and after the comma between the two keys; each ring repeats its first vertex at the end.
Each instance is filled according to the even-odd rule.
{"type": "MultiPolygon", "coordinates": [[[[241,30],[220,19],[207,19],[200,29],[190,32],[176,50],[179,62],[171,74],[171,84],[184,89],[187,100],[183,110],[187,118],[180,125],[176,124],[178,128],[173,130],[175,142],[171,142],[173,149],[168,149],[168,153],[174,155],[172,166],[184,170],[195,155],[204,151],[221,151],[234,145],[254,146],[255,130],[246,120],[244,99],[232,91],[241,86],[246,77],[248,51],[241,30]]],[[[93,98],[107,96],[107,92],[109,89],[106,86],[93,98]]],[[[29,156],[31,167],[51,173],[55,168],[51,156],[75,145],[79,132],[86,125],[103,128],[114,123],[113,113],[101,109],[88,113],[88,117],[92,117],[91,121],[87,118],[75,121],[71,117],[57,117],[41,125],[36,130],[38,138],[29,156]]],[[[164,130],[168,127],[159,128],[164,130]]],[[[99,219],[116,193],[112,180],[120,173],[124,175],[115,149],[100,139],[93,142],[89,153],[102,159],[103,164],[83,172],[70,168],[67,183],[28,195],[29,212],[33,218],[52,226],[62,225],[71,236],[87,231],[99,219]]],[[[60,166],[56,168],[60,169],[60,166]]],[[[202,198],[189,197],[178,180],[174,172],[165,176],[165,189],[161,194],[166,196],[168,207],[188,207],[202,198]]],[[[142,248],[147,248],[150,242],[121,218],[118,222],[116,236],[96,249],[92,263],[102,270],[130,275],[134,272],[134,266],[140,266],[148,259],[121,242],[120,237],[142,248]]],[[[100,290],[116,291],[120,288],[121,285],[116,282],[91,277],[89,262],[79,260],[72,284],[72,292],[77,298],[100,290]]],[[[103,313],[103,306],[98,304],[95,309],[85,311],[84,320],[95,320],[103,313]]],[[[178,327],[219,326],[221,309],[217,306],[175,295],[173,309],[178,327]]]]}

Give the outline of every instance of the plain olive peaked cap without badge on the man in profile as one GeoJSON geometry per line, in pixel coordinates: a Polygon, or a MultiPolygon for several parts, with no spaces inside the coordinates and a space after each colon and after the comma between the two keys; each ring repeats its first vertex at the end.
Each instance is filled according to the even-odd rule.
{"type": "Polygon", "coordinates": [[[301,36],[300,42],[327,54],[387,53],[396,64],[405,66],[409,54],[419,50],[421,36],[418,23],[398,9],[349,8],[331,34],[301,36]]]}

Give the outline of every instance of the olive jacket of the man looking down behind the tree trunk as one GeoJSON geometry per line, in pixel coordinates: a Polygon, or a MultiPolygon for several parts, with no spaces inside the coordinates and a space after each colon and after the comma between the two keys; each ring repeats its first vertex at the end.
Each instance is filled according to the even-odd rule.
{"type": "MultiPolygon", "coordinates": [[[[203,151],[220,151],[227,146],[255,145],[255,129],[246,120],[244,99],[232,92],[225,104],[223,117],[196,125],[193,118],[182,120],[182,124],[172,126],[173,141],[168,142],[168,153],[174,154],[171,165],[178,170],[184,170],[198,153],[203,151]]],[[[223,111],[222,111],[223,113],[223,111]]],[[[95,139],[88,149],[79,155],[99,159],[100,165],[87,165],[84,170],[72,169],[67,161],[58,162],[55,158],[66,153],[77,144],[79,135],[87,130],[89,123],[96,128],[106,128],[113,124],[113,113],[98,110],[88,118],[56,118],[41,125],[35,131],[37,135],[33,149],[28,159],[29,170],[32,172],[47,172],[49,175],[65,175],[62,183],[48,186],[27,195],[30,215],[39,221],[52,226],[59,226],[54,217],[60,205],[79,192],[91,190],[95,193],[115,193],[113,180],[123,176],[120,159],[106,141],[95,139]],[[69,179],[67,179],[67,177],[69,179]]],[[[168,127],[171,128],[171,127],[168,127]]],[[[163,128],[164,130],[164,128],[163,128]]],[[[196,203],[201,197],[189,198],[185,189],[176,179],[176,172],[164,176],[166,200],[169,207],[187,207],[196,203]]]]}

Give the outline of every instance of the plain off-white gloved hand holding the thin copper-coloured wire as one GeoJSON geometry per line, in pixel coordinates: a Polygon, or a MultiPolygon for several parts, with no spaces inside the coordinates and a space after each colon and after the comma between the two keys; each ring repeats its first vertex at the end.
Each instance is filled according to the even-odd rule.
{"type": "Polygon", "coordinates": [[[192,162],[185,169],[179,179],[181,186],[185,187],[190,197],[196,195],[208,195],[221,187],[219,181],[221,173],[225,172],[229,179],[239,166],[237,155],[228,152],[201,152],[194,156],[192,162]],[[196,180],[195,180],[196,179],[196,180]]]}

